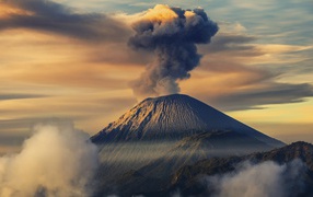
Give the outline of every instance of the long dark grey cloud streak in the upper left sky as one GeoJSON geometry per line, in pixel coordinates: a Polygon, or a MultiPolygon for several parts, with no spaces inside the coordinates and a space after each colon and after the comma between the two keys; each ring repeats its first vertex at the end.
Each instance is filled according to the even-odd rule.
{"type": "Polygon", "coordinates": [[[126,39],[130,34],[124,23],[105,14],[76,13],[50,0],[4,0],[2,3],[30,14],[11,13],[0,19],[0,31],[31,28],[96,42],[126,39]]]}

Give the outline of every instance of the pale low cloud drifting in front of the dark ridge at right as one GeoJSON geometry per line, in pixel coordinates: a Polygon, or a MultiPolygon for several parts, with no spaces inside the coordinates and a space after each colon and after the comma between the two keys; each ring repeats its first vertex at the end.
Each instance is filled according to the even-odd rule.
{"type": "Polygon", "coordinates": [[[279,165],[268,161],[257,165],[243,163],[234,173],[208,177],[208,190],[215,197],[288,197],[303,190],[306,167],[300,160],[279,165]]]}

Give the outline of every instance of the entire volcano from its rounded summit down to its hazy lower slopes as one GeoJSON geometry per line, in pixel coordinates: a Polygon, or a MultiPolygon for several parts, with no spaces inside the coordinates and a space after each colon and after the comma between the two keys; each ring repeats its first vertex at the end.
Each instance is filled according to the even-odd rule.
{"type": "Polygon", "coordinates": [[[142,182],[151,183],[146,190],[160,190],[177,169],[204,159],[285,146],[182,94],[142,101],[91,140],[101,149],[97,195],[117,194],[123,187],[121,196],[140,193],[142,182]]]}

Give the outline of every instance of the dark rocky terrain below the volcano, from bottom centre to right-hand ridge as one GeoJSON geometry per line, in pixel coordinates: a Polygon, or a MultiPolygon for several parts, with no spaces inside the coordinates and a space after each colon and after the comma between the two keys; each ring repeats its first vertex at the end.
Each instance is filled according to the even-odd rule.
{"type": "Polygon", "coordinates": [[[183,158],[162,158],[137,171],[129,171],[117,178],[111,187],[114,185],[114,193],[118,196],[173,196],[177,190],[181,196],[211,196],[213,192],[204,182],[204,177],[234,172],[236,165],[247,161],[253,164],[273,161],[283,165],[299,160],[303,162],[303,173],[298,175],[299,179],[291,183],[290,187],[294,187],[294,194],[290,194],[290,197],[313,196],[313,146],[306,142],[295,142],[247,155],[213,157],[204,160],[197,158],[200,161],[178,167],[176,162],[186,162],[183,158]]]}

